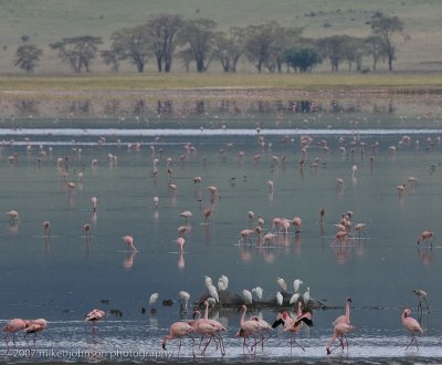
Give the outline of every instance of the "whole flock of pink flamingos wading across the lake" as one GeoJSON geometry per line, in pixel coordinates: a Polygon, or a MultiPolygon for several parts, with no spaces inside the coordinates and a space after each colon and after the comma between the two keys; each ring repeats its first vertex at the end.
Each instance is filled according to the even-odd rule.
{"type": "MultiPolygon", "coordinates": [[[[257,138],[259,143],[261,145],[264,144],[264,138],[262,136],[259,136],[257,138]]],[[[307,150],[309,144],[313,142],[313,139],[308,136],[303,136],[301,138],[301,145],[302,145],[302,159],[299,159],[299,168],[304,168],[306,161],[307,161],[307,150]]],[[[407,137],[402,138],[402,143],[409,143],[407,137]]],[[[327,148],[326,144],[322,142],[323,148],[327,148]]],[[[228,148],[231,148],[231,145],[228,145],[228,148]]],[[[134,144],[129,145],[129,148],[138,149],[140,148],[140,144],[134,144]]],[[[270,146],[269,146],[270,148],[270,146]]],[[[340,147],[341,152],[344,147],[340,147]]],[[[371,150],[371,160],[375,158],[375,150],[377,148],[377,145],[373,145],[371,150]]],[[[155,147],[151,148],[152,155],[155,152],[155,147]]],[[[193,153],[194,147],[191,144],[187,144],[185,146],[186,153],[193,153]]],[[[362,150],[362,148],[361,148],[362,150]]],[[[345,148],[344,148],[345,152],[345,148]]],[[[352,148],[351,154],[354,154],[355,150],[352,148]]],[[[390,147],[390,153],[394,154],[396,148],[390,147]]],[[[223,152],[221,153],[223,155],[223,152]]],[[[109,160],[112,160],[113,164],[116,164],[117,158],[115,155],[109,154],[109,160]]],[[[238,153],[238,159],[244,158],[244,153],[239,152],[238,153]]],[[[259,160],[261,158],[260,155],[255,155],[254,159],[259,160]]],[[[179,157],[181,161],[186,159],[186,155],[181,155],[179,157]]],[[[151,176],[154,181],[157,181],[158,175],[159,175],[159,158],[154,158],[152,161],[152,169],[151,169],[151,176]]],[[[9,161],[11,164],[17,164],[18,161],[18,156],[14,155],[13,158],[10,158],[9,161]]],[[[66,159],[59,158],[57,165],[63,166],[65,164],[66,159]]],[[[206,163],[206,161],[204,161],[206,163]]],[[[273,156],[272,157],[272,164],[283,164],[284,158],[283,157],[277,157],[273,156]]],[[[315,169],[317,168],[317,160],[314,160],[311,164],[311,168],[315,169]]],[[[97,160],[94,159],[92,160],[92,166],[96,166],[97,160]]],[[[173,195],[175,191],[177,190],[177,185],[172,181],[172,159],[168,158],[167,159],[167,174],[168,174],[168,188],[170,190],[170,194],[173,195]]],[[[351,168],[351,174],[355,176],[357,174],[357,166],[354,165],[351,168]]],[[[62,178],[64,179],[64,184],[67,189],[75,189],[75,182],[74,181],[69,181],[67,180],[67,171],[62,169],[62,178]]],[[[82,179],[83,175],[78,174],[78,179],[82,179]]],[[[193,182],[196,186],[196,195],[198,197],[201,197],[200,194],[200,185],[201,185],[202,178],[200,176],[197,176],[193,178],[193,182]]],[[[415,188],[417,185],[417,179],[414,177],[409,177],[408,178],[408,184],[411,187],[415,188]]],[[[269,192],[272,194],[274,190],[274,182],[272,180],[267,181],[267,188],[269,192]]],[[[407,186],[406,185],[399,185],[397,187],[399,196],[402,195],[406,190],[407,186]]],[[[208,191],[210,194],[210,206],[204,208],[202,212],[202,218],[203,218],[203,223],[204,225],[210,225],[211,219],[212,219],[212,211],[213,207],[217,205],[217,202],[220,199],[220,195],[218,191],[218,188],[215,186],[209,186],[208,191]]],[[[336,182],[336,191],[340,192],[345,189],[344,185],[344,179],[343,178],[337,178],[336,182]]],[[[94,212],[97,210],[97,197],[92,197],[91,198],[91,205],[92,209],[94,212]]],[[[155,196],[152,197],[152,204],[155,209],[159,209],[159,197],[155,196]]],[[[326,209],[320,208],[319,209],[319,227],[322,230],[325,227],[326,222],[326,209]]],[[[15,225],[17,221],[19,220],[19,212],[17,210],[10,210],[6,212],[8,215],[11,225],[15,225]]],[[[185,219],[185,225],[178,227],[178,238],[176,240],[176,243],[179,248],[179,251],[182,253],[183,252],[183,247],[186,243],[186,232],[188,230],[188,221],[192,217],[192,212],[190,210],[185,210],[180,213],[180,217],[185,219]]],[[[251,236],[255,234],[256,236],[256,244],[262,246],[262,244],[272,244],[274,240],[276,240],[280,234],[286,236],[288,234],[290,229],[293,227],[294,228],[294,233],[299,234],[302,230],[302,219],[298,216],[295,216],[294,218],[287,219],[284,217],[276,217],[272,220],[272,227],[269,230],[269,232],[265,233],[264,229],[264,219],[262,215],[256,215],[253,211],[248,212],[250,226],[246,229],[243,229],[239,232],[239,246],[246,246],[246,244],[254,244],[253,241],[251,240],[251,236]]],[[[51,222],[45,220],[42,223],[43,231],[45,236],[51,234],[51,222]]],[[[338,220],[337,223],[334,225],[336,228],[336,239],[332,244],[345,244],[346,240],[348,240],[350,237],[352,238],[361,238],[361,236],[366,236],[366,229],[367,229],[367,223],[365,222],[359,222],[354,225],[352,223],[352,212],[351,211],[346,211],[343,213],[340,219],[338,220]]],[[[87,237],[90,230],[91,230],[91,223],[85,223],[83,226],[83,230],[85,232],[85,236],[87,237]]],[[[431,239],[434,238],[434,232],[433,231],[422,231],[422,233],[419,236],[418,239],[418,244],[422,243],[423,241],[430,241],[431,239]]],[[[134,242],[134,237],[131,234],[126,234],[123,237],[124,242],[127,244],[127,247],[133,250],[134,252],[137,251],[137,248],[134,242]]],[[[432,242],[432,241],[431,241],[432,242]]],[[[219,286],[220,288],[220,286],[219,286]]],[[[222,286],[221,286],[222,288],[222,286]]],[[[225,327],[218,321],[210,320],[209,319],[209,306],[210,302],[214,301],[214,303],[219,302],[218,299],[218,292],[217,289],[214,288],[213,284],[208,284],[207,285],[208,292],[209,292],[209,298],[208,300],[203,301],[202,304],[206,306],[204,311],[204,316],[201,316],[201,313],[199,310],[194,312],[194,317],[193,320],[182,320],[179,322],[175,322],[170,325],[169,333],[164,336],[162,338],[162,348],[166,350],[166,345],[168,341],[171,340],[179,340],[179,348],[181,347],[181,342],[183,338],[189,338],[191,341],[191,351],[193,356],[196,356],[194,353],[194,336],[200,335],[200,344],[199,348],[201,350],[200,354],[204,355],[208,347],[210,344],[214,344],[215,348],[220,351],[221,355],[225,354],[225,347],[223,344],[223,338],[222,338],[222,333],[225,332],[225,327]]],[[[224,290],[227,286],[224,285],[224,290]]],[[[253,292],[260,295],[260,288],[254,288],[253,292]]],[[[278,293],[280,294],[280,293],[278,293]]],[[[295,293],[296,294],[296,293],[295,293]]],[[[424,300],[427,303],[427,293],[423,290],[417,290],[415,294],[420,298],[419,305],[421,305],[421,300],[424,300]]],[[[261,294],[262,295],[262,294],[261,294]]],[[[281,294],[280,294],[281,295],[281,294]]],[[[182,300],[183,307],[187,307],[187,303],[189,301],[189,294],[185,291],[180,292],[179,294],[180,299],[182,300]]],[[[302,346],[299,343],[296,342],[296,334],[299,333],[301,328],[303,327],[304,324],[312,326],[313,325],[313,311],[308,307],[308,298],[306,299],[306,294],[303,295],[302,300],[299,300],[299,296],[296,298],[295,300],[291,300],[290,304],[295,305],[296,307],[296,315],[292,316],[290,312],[284,311],[282,313],[277,314],[277,317],[274,320],[273,324],[270,324],[265,322],[263,319],[257,317],[257,316],[251,316],[246,319],[246,311],[249,304],[252,303],[251,300],[252,294],[249,291],[243,291],[243,299],[244,303],[241,304],[240,310],[242,312],[240,324],[239,324],[239,330],[236,332],[238,337],[243,338],[243,352],[245,351],[248,353],[255,353],[256,348],[261,346],[264,348],[265,341],[269,338],[270,334],[274,328],[276,328],[278,325],[283,326],[283,331],[288,333],[291,336],[291,351],[293,344],[298,345],[303,351],[305,350],[304,346],[302,346]],[[249,346],[248,340],[253,338],[253,344],[249,346]]],[[[150,298],[150,304],[155,303],[156,300],[158,299],[158,294],[155,293],[150,298]]],[[[283,302],[282,295],[278,296],[276,295],[276,301],[281,305],[283,302]]],[[[348,298],[346,300],[346,313],[344,315],[340,315],[337,317],[334,323],[333,323],[333,335],[328,343],[326,344],[326,353],[332,354],[332,352],[336,348],[333,347],[334,343],[338,341],[338,346],[340,347],[341,351],[345,350],[345,347],[348,348],[348,340],[347,336],[348,334],[355,330],[355,326],[350,322],[350,303],[351,300],[348,298]]],[[[427,303],[428,304],[428,303],[427,303]]],[[[410,332],[411,334],[411,342],[408,344],[407,348],[411,345],[414,344],[418,347],[418,341],[415,335],[418,333],[422,334],[423,331],[419,324],[418,321],[412,319],[410,316],[411,311],[410,309],[404,309],[401,315],[401,321],[403,327],[410,332]]],[[[96,323],[101,320],[103,320],[106,316],[106,313],[102,310],[94,309],[91,313],[86,315],[86,321],[90,321],[93,323],[93,331],[96,328],[96,323]]],[[[15,344],[15,338],[14,335],[18,332],[23,332],[24,337],[27,338],[28,334],[34,334],[34,342],[35,342],[35,334],[39,332],[42,332],[43,330],[46,328],[48,322],[43,319],[38,319],[38,320],[22,320],[22,319],[13,319],[11,320],[4,327],[3,331],[6,334],[12,334],[12,341],[15,344]]],[[[7,341],[7,347],[9,348],[8,344],[8,336],[6,335],[6,341],[7,341]]]]}

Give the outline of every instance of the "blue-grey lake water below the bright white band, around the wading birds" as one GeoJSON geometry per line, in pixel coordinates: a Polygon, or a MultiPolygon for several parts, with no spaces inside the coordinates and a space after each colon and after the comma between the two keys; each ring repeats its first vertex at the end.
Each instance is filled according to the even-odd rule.
{"type": "MultiPolygon", "coordinates": [[[[32,353],[22,334],[9,352],[3,342],[0,361],[191,362],[189,341],[180,354],[177,341],[168,344],[169,352],[161,350],[170,324],[181,320],[178,292],[188,291],[193,303],[206,292],[204,275],[215,283],[225,274],[230,291],[260,285],[266,298],[280,291],[278,277],[288,291],[299,278],[299,292],[308,286],[311,296],[328,309],[315,310],[314,326],[298,334],[305,352],[294,346],[291,354],[290,337],[278,328],[256,355],[244,355],[242,338],[235,337],[238,306],[213,309],[211,316],[227,326],[227,354],[222,357],[210,345],[201,356],[196,346],[199,362],[440,363],[441,135],[438,128],[387,131],[378,125],[360,131],[264,127],[260,134],[254,128],[1,129],[1,207],[19,212],[17,223],[4,213],[0,221],[1,324],[12,317],[44,317],[49,325],[38,334],[35,346],[29,336],[32,353]],[[312,137],[305,154],[303,135],[312,137]],[[410,143],[400,143],[404,135],[410,143]],[[39,155],[42,150],[45,156],[39,155]],[[9,158],[14,153],[17,161],[9,158]],[[115,163],[109,154],[117,157],[115,163]],[[67,176],[62,177],[63,171],[67,176]],[[196,176],[202,178],[200,185],[193,182],[196,176]],[[409,176],[417,178],[417,186],[407,181],[409,176]],[[344,188],[337,187],[337,178],[344,188]],[[274,182],[272,194],[269,180],[274,182]],[[75,188],[69,189],[65,181],[75,182],[75,188]],[[402,184],[406,190],[399,194],[402,184]],[[214,201],[209,186],[218,188],[214,201]],[[98,200],[95,213],[93,196],[98,200]],[[204,223],[208,207],[212,220],[204,223]],[[180,254],[176,240],[185,210],[192,217],[180,254]],[[252,244],[239,242],[240,231],[251,225],[249,211],[262,215],[264,232],[275,217],[298,216],[301,233],[291,228],[271,244],[259,244],[256,236],[252,244]],[[333,225],[347,211],[352,211],[352,225],[367,223],[367,236],[336,242],[333,225]],[[45,220],[51,222],[50,237],[43,232],[45,220]],[[88,237],[85,223],[92,227],[88,237]],[[417,244],[423,230],[434,231],[432,247],[417,244]],[[128,233],[137,252],[122,239],[128,233]],[[430,313],[418,311],[412,292],[418,288],[429,293],[430,313]],[[148,300],[154,292],[159,299],[151,313],[148,300]],[[332,322],[344,313],[347,296],[356,330],[348,336],[348,351],[327,356],[332,322]],[[164,300],[173,303],[164,305],[164,300]],[[406,351],[410,335],[400,321],[406,306],[424,330],[418,336],[419,351],[406,351]],[[107,316],[92,332],[84,316],[94,307],[107,316]]],[[[277,311],[260,314],[273,323],[277,311]]],[[[186,317],[191,314],[189,309],[186,317]]]]}

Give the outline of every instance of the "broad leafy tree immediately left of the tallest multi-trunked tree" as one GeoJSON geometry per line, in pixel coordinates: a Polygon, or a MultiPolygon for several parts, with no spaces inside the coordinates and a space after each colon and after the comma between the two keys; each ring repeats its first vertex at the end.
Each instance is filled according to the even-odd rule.
{"type": "Polygon", "coordinates": [[[112,33],[112,50],[119,60],[129,60],[138,72],[144,72],[151,52],[147,25],[124,28],[112,33]]]}

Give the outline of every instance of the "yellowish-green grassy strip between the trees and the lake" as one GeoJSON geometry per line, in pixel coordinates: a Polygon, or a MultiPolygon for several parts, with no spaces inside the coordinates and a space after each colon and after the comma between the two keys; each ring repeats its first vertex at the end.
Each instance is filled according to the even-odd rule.
{"type": "Polygon", "coordinates": [[[101,74],[88,76],[0,76],[0,93],[133,92],[198,88],[442,90],[436,73],[381,74],[101,74]]]}

